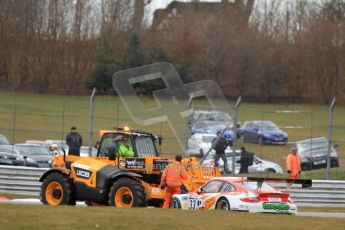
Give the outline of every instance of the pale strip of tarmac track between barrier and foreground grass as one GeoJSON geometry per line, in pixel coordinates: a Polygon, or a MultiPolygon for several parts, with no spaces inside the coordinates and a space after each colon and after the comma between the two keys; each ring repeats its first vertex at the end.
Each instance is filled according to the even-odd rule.
{"type": "MultiPolygon", "coordinates": [[[[39,199],[13,199],[13,200],[1,200],[0,204],[27,204],[27,205],[42,205],[39,199]]],[[[77,206],[86,206],[84,202],[77,202],[77,206]]],[[[335,212],[298,212],[297,216],[309,216],[309,217],[330,217],[330,218],[345,218],[345,213],[335,212]]]]}

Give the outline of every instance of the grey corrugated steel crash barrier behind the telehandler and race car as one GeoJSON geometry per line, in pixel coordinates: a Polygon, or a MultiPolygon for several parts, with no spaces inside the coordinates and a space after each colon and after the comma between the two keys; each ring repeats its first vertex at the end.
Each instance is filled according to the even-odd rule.
{"type": "MultiPolygon", "coordinates": [[[[38,196],[41,183],[39,177],[47,168],[0,166],[0,193],[38,196]]],[[[285,183],[271,183],[286,191],[285,183]]],[[[287,191],[300,206],[345,207],[345,181],[313,180],[310,188],[292,185],[287,191]]]]}

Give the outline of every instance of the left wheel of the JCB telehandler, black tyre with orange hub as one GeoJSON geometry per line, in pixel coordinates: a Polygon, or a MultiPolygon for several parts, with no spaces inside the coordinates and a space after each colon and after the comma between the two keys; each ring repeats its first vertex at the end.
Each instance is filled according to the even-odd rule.
{"type": "Polygon", "coordinates": [[[72,186],[68,179],[60,173],[52,173],[41,185],[41,202],[53,206],[75,205],[72,198],[72,186]]]}

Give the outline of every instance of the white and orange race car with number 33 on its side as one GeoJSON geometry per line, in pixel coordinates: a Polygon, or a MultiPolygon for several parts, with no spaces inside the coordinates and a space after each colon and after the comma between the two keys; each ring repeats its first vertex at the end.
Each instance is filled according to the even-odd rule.
{"type": "Polygon", "coordinates": [[[173,195],[170,207],[297,214],[297,206],[288,193],[274,189],[263,179],[251,181],[246,177],[212,179],[197,192],[173,195]]]}

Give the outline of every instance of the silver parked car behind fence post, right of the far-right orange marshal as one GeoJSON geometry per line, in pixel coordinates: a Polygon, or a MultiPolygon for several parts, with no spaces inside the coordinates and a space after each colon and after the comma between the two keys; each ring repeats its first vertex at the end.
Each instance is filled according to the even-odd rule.
{"type": "MultiPolygon", "coordinates": [[[[337,145],[331,146],[331,167],[338,167],[337,145]]],[[[312,170],[327,167],[328,139],[317,137],[296,142],[297,153],[301,158],[301,169],[312,170]]]]}

